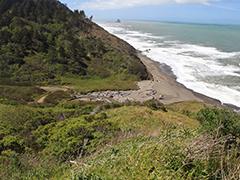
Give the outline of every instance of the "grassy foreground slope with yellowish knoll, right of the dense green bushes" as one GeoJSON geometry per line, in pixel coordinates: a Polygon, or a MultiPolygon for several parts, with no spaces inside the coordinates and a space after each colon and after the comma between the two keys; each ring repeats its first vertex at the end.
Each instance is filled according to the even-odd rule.
{"type": "MultiPolygon", "coordinates": [[[[221,143],[224,141],[221,142],[221,138],[215,136],[214,130],[208,124],[214,116],[218,121],[221,115],[206,116],[210,119],[206,122],[206,126],[203,125],[204,127],[193,118],[205,107],[205,104],[197,102],[182,102],[169,105],[169,112],[152,111],[146,107],[136,106],[108,111],[110,121],[119,124],[122,131],[136,132],[136,134],[121,135],[120,140],[113,141],[90,157],[79,159],[78,164],[72,169],[73,178],[229,179],[231,177],[234,179],[239,177],[240,159],[236,155],[239,150],[234,149],[233,146],[233,149],[223,151],[221,143]],[[206,138],[206,133],[199,128],[205,130],[210,128],[210,134],[213,133],[215,136],[216,145],[207,147],[211,143],[211,138],[208,139],[210,135],[206,138]],[[217,144],[218,141],[220,144],[217,144]],[[222,155],[222,151],[226,154],[222,155]]],[[[226,114],[223,118],[226,118],[225,116],[226,114]]],[[[228,114],[227,118],[234,119],[230,116],[228,114]]],[[[238,129],[239,132],[240,119],[237,118],[236,121],[230,120],[231,124],[223,127],[228,129],[228,126],[232,127],[235,122],[238,124],[235,130],[238,129]]],[[[218,127],[216,122],[212,125],[218,127]]],[[[228,129],[228,133],[231,131],[228,129]]],[[[222,138],[224,139],[224,136],[222,138]]]]}

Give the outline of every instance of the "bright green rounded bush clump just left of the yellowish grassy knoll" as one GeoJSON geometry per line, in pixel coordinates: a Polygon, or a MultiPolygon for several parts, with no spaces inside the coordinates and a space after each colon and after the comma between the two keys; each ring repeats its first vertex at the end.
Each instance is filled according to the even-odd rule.
{"type": "Polygon", "coordinates": [[[91,121],[89,118],[75,118],[39,127],[34,136],[45,155],[66,160],[94,151],[114,131],[116,129],[104,118],[93,118],[91,121]]]}

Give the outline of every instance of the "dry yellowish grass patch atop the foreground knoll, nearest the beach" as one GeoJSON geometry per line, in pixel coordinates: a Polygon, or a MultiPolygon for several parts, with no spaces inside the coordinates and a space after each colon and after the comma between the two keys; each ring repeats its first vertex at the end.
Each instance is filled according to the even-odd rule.
{"type": "Polygon", "coordinates": [[[116,124],[121,131],[137,131],[141,134],[155,136],[162,129],[177,126],[195,129],[198,121],[173,111],[154,111],[145,106],[124,106],[106,111],[109,121],[116,124]]]}

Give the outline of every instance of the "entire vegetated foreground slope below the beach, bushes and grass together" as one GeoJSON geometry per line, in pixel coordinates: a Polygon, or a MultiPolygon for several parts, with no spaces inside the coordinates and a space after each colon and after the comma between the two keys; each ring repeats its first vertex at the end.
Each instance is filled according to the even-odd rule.
{"type": "Polygon", "coordinates": [[[237,177],[236,113],[195,102],[166,109],[152,105],[0,104],[0,175],[2,179],[237,177]],[[229,141],[233,136],[235,140],[229,141]]]}

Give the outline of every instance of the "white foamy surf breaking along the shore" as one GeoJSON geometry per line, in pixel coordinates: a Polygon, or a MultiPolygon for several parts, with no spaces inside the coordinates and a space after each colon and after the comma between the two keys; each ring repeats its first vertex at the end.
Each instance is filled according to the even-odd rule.
{"type": "Polygon", "coordinates": [[[198,93],[219,99],[240,107],[240,86],[227,87],[222,84],[208,83],[207,76],[237,76],[240,68],[224,65],[218,59],[239,56],[240,52],[222,52],[215,47],[184,44],[179,41],[164,41],[164,37],[150,33],[131,31],[121,24],[100,24],[110,33],[127,41],[136,49],[143,51],[149,58],[169,65],[177,81],[198,93]],[[156,41],[161,39],[161,41],[156,41]],[[151,49],[147,52],[147,49],[151,49]]]}

